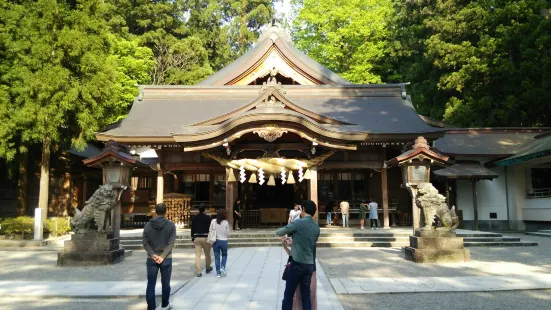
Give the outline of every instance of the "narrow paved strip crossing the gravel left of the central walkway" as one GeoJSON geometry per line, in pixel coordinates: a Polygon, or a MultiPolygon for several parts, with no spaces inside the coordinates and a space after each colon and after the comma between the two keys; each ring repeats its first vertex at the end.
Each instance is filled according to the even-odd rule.
{"type": "MultiPolygon", "coordinates": [[[[172,292],[178,291],[186,281],[171,281],[172,292]]],[[[35,297],[125,297],[145,296],[144,281],[0,281],[0,296],[35,297]]],[[[157,282],[155,294],[161,295],[157,282]]]]}

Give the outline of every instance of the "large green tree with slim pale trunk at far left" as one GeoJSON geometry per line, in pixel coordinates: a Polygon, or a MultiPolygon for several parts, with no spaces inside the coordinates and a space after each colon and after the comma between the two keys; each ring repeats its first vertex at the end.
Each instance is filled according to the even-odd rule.
{"type": "Polygon", "coordinates": [[[110,32],[108,9],[101,0],[0,4],[0,155],[12,159],[16,143],[42,145],[40,208],[52,149],[82,148],[124,115],[151,64],[149,50],[110,32]]]}

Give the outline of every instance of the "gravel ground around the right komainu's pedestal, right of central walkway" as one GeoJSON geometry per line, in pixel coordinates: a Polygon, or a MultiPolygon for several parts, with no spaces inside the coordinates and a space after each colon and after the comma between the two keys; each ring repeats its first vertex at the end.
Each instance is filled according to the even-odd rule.
{"type": "Polygon", "coordinates": [[[505,234],[539,242],[537,247],[469,248],[471,261],[453,264],[415,264],[403,249],[318,249],[328,278],[461,277],[551,273],[551,238],[505,234]]]}

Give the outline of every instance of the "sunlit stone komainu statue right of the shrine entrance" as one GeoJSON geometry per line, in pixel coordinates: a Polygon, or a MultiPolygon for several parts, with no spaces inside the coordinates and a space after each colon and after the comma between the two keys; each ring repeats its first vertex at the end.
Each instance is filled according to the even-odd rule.
{"type": "Polygon", "coordinates": [[[423,215],[425,216],[423,230],[434,229],[432,224],[434,223],[435,216],[442,222],[442,227],[439,227],[438,230],[454,231],[459,225],[459,218],[455,214],[455,207],[450,210],[446,204],[446,197],[440,195],[432,184],[425,183],[419,185],[415,202],[423,210],[423,215]]]}

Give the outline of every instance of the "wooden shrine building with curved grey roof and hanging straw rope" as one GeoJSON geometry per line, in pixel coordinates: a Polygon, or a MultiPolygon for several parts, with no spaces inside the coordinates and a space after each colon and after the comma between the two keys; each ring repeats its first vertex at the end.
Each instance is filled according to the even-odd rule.
{"type": "MultiPolygon", "coordinates": [[[[347,200],[357,210],[371,198],[389,227],[411,225],[412,206],[400,168],[384,162],[417,137],[457,160],[455,170],[432,179],[471,225],[476,208],[468,191],[476,191],[478,180],[501,184],[485,180],[506,178],[500,164],[484,165],[514,156],[513,148],[546,132],[432,121],[418,115],[406,84],[353,84],[299,51],[273,25],[249,52],[196,86],[140,86],[128,116],[96,137],[129,146],[151,167],[134,171],[123,201],[126,217],[149,214],[155,202],[170,197],[187,197],[186,212],[205,203],[227,208],[231,217],[239,198],[245,225],[279,225],[294,202],[311,199],[321,224],[331,202],[347,200]],[[500,144],[503,139],[508,146],[500,144]]],[[[496,229],[511,220],[508,206],[480,208],[482,226],[492,213],[501,221],[496,229]]],[[[182,226],[187,221],[174,220],[182,226]]]]}

